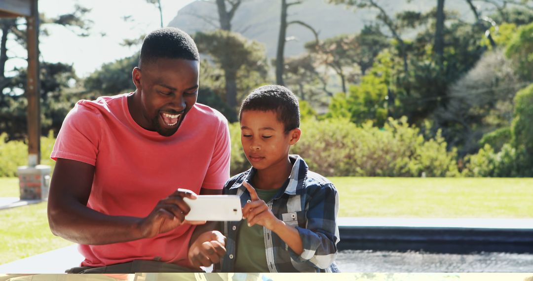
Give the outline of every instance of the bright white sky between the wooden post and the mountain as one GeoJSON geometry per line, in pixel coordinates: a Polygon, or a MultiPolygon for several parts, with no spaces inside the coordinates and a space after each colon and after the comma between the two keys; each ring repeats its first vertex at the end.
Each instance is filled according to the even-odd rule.
{"type": "MultiPolygon", "coordinates": [[[[176,16],[177,11],[193,1],[161,0],[164,26],[176,16]]],[[[91,36],[78,37],[67,28],[47,24],[43,27],[50,36],[39,38],[39,50],[46,62],[73,64],[79,77],[87,76],[103,63],[130,56],[140,48],[120,46],[123,39],[138,38],[160,27],[159,10],[146,0],[39,0],[39,12],[49,17],[69,13],[74,11],[76,3],[92,9],[86,15],[87,19],[94,21],[91,36]],[[131,21],[124,21],[124,16],[131,16],[131,21]]],[[[19,54],[26,52],[14,51],[19,54]]],[[[26,65],[17,59],[12,63],[26,65]]],[[[7,67],[9,69],[9,65],[7,67]]]]}

